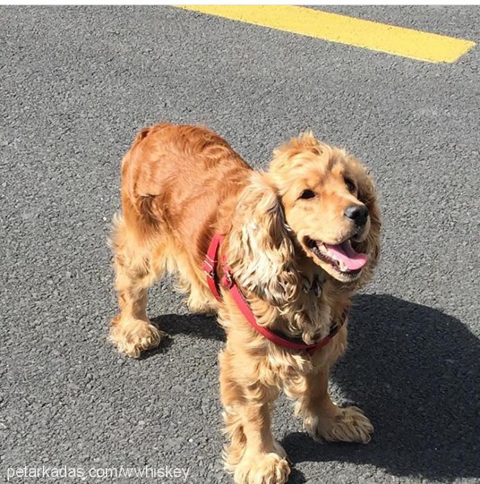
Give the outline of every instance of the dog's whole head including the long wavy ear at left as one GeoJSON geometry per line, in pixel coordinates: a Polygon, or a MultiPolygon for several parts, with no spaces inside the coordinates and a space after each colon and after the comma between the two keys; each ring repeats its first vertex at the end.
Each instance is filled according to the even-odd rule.
{"type": "Polygon", "coordinates": [[[241,287],[282,306],[302,288],[298,250],[333,279],[357,287],[379,254],[375,188],[364,167],[311,133],[252,171],[232,218],[228,261],[241,287]]]}

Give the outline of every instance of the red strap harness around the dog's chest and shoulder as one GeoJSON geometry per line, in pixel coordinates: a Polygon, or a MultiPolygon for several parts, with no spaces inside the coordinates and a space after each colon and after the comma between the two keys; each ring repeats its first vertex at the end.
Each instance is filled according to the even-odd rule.
{"type": "Polygon", "coordinates": [[[246,320],[250,323],[250,326],[260,333],[262,336],[266,337],[269,341],[277,344],[278,346],[283,346],[284,348],[288,348],[290,350],[306,350],[308,353],[313,354],[315,351],[320,350],[323,346],[325,346],[337,333],[340,329],[340,325],[335,325],[331,329],[328,336],[320,339],[314,344],[306,344],[302,342],[302,340],[292,339],[285,336],[281,336],[278,333],[274,333],[268,328],[261,326],[257,323],[257,319],[255,319],[255,315],[252,313],[250,306],[248,305],[248,301],[246,301],[245,297],[241,293],[239,286],[235,283],[232,277],[232,270],[225,259],[222,258],[221,261],[221,272],[222,276],[219,280],[219,276],[217,274],[217,268],[219,261],[217,260],[217,254],[219,252],[220,244],[223,241],[223,235],[215,234],[213,236],[210,245],[208,246],[207,255],[202,263],[202,269],[207,274],[207,283],[208,287],[212,291],[212,294],[216,299],[219,301],[222,300],[220,295],[220,286],[228,290],[230,292],[230,296],[234,300],[235,304],[243,316],[245,316],[246,320]]]}

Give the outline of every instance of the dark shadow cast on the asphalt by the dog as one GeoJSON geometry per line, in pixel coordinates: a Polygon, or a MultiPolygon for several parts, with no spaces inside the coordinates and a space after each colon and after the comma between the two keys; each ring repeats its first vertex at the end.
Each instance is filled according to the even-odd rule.
{"type": "MultiPolygon", "coordinates": [[[[169,335],[225,339],[214,317],[153,321],[169,335]]],[[[396,476],[480,477],[480,342],[458,319],[388,295],[360,295],[350,315],[349,349],[332,380],[371,418],[371,443],[289,434],[282,445],[294,464],[340,461],[396,476]]],[[[305,481],[293,469],[289,482],[305,481]]]]}

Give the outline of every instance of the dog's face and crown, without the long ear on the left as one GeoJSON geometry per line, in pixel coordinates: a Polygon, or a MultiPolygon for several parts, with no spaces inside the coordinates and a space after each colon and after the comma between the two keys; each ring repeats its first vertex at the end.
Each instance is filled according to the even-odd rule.
{"type": "Polygon", "coordinates": [[[269,176],[307,256],[342,283],[367,277],[379,255],[380,216],[360,162],[308,132],[275,151],[269,176]]]}

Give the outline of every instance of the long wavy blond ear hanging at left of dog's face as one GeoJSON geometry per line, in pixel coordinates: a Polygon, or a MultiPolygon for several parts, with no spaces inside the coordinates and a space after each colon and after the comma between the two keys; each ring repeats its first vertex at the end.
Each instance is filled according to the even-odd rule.
{"type": "Polygon", "coordinates": [[[284,210],[265,174],[253,172],[232,220],[228,261],[240,287],[283,306],[299,295],[295,247],[284,210]]]}

